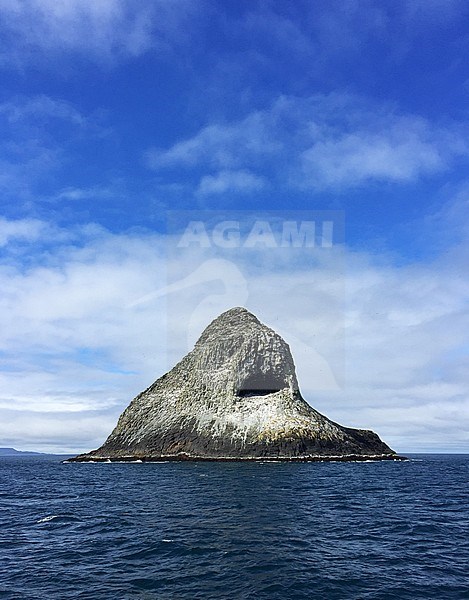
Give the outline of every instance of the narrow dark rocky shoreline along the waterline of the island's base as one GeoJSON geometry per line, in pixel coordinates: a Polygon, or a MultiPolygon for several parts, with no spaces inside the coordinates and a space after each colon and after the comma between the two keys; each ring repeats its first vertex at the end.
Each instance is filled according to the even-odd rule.
{"type": "Polygon", "coordinates": [[[151,462],[377,462],[381,460],[405,461],[406,456],[398,454],[347,454],[310,456],[191,456],[173,454],[162,456],[92,456],[81,454],[64,460],[64,463],[151,463],[151,462]]]}

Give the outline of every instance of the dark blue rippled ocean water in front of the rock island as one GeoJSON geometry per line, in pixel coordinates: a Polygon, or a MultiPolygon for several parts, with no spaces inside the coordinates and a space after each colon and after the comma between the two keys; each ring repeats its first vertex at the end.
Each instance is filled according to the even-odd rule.
{"type": "Polygon", "coordinates": [[[469,455],[0,459],[0,598],[469,598],[469,455]]]}

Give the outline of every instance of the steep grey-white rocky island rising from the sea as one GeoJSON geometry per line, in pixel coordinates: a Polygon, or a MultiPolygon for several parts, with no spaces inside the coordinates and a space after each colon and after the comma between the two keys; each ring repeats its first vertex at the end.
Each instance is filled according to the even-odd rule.
{"type": "Polygon", "coordinates": [[[139,394],[106,442],[75,459],[400,458],[372,431],[330,421],[302,398],[288,344],[244,308],[139,394]]]}

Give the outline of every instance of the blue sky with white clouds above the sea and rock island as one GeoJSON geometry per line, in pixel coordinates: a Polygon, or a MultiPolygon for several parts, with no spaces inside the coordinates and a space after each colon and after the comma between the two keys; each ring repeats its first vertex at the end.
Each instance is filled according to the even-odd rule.
{"type": "Polygon", "coordinates": [[[254,272],[240,252],[244,303],[331,365],[340,338],[340,390],[299,367],[325,414],[401,451],[469,451],[468,17],[462,0],[2,2],[0,445],[99,445],[168,366],[163,301],[128,310],[192,264],[168,258],[167,210],[329,210],[340,268],[263,254],[254,272]],[[310,292],[288,315],[279,287],[310,292]]]}

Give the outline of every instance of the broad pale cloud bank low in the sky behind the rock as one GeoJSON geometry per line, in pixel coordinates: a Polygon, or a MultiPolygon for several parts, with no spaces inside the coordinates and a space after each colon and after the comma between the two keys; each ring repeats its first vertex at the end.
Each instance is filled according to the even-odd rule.
{"type": "Polygon", "coordinates": [[[223,262],[208,248],[216,260],[166,304],[158,290],[197,267],[193,249],[168,259],[160,235],[0,225],[0,445],[97,446],[130,399],[186,351],[192,326],[200,331],[241,303],[284,335],[305,398],[330,418],[374,429],[397,450],[467,450],[465,246],[407,266],[347,251],[345,273],[334,253],[305,261],[234,248],[223,262]],[[35,262],[26,268],[17,244],[28,242],[35,262]],[[342,388],[321,389],[325,367],[342,388]]]}

